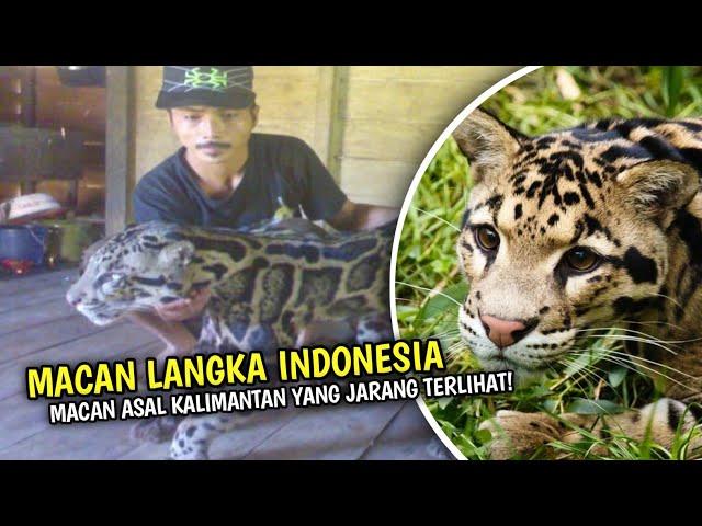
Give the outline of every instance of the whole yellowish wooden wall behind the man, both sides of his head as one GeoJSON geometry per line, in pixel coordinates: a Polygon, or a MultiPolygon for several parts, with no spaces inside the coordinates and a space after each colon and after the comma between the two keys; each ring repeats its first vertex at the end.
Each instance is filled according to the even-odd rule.
{"type": "MultiPolygon", "coordinates": [[[[259,132],[307,141],[352,201],[399,206],[445,126],[516,67],[258,66],[259,132]]],[[[154,103],[160,67],[135,71],[132,183],[178,144],[154,103]]]]}

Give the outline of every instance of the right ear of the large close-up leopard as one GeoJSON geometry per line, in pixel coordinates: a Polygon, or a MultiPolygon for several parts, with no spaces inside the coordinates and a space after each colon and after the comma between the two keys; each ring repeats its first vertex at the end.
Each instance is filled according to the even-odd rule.
{"type": "Polygon", "coordinates": [[[625,204],[639,214],[669,222],[669,213],[683,208],[700,190],[700,174],[683,162],[656,160],[635,164],[619,175],[625,204]]]}

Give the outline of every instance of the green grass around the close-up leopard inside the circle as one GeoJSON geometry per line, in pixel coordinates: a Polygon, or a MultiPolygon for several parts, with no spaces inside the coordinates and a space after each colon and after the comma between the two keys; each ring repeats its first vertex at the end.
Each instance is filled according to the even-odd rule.
{"type": "MultiPolygon", "coordinates": [[[[467,103],[468,101],[466,101],[467,103]]],[[[507,124],[537,135],[601,117],[686,117],[702,115],[702,69],[698,67],[548,67],[506,87],[484,106],[507,124]],[[558,80],[559,79],[559,80],[558,80]],[[575,90],[573,89],[577,87],[575,90]],[[577,93],[579,91],[579,93],[577,93]]],[[[477,363],[460,341],[457,305],[468,285],[456,266],[457,229],[471,191],[469,168],[453,139],[438,151],[412,196],[397,254],[396,305],[403,338],[439,338],[451,356],[452,371],[476,370],[477,363]]],[[[469,459],[488,455],[486,432],[478,424],[499,409],[545,411],[557,415],[607,413],[642,407],[660,395],[653,381],[623,362],[615,331],[584,346],[561,375],[499,397],[426,400],[458,449],[469,459]]],[[[644,364],[645,365],[645,364],[644,364]]],[[[697,433],[697,430],[695,430],[697,433]]],[[[690,436],[670,450],[644,441],[614,437],[593,451],[596,437],[582,444],[552,444],[535,458],[687,458],[690,436]]]]}

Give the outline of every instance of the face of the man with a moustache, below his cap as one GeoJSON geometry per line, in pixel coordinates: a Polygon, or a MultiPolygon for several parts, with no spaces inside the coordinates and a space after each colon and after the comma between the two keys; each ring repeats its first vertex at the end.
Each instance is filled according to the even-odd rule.
{"type": "Polygon", "coordinates": [[[170,112],[171,126],[189,156],[205,163],[227,162],[247,148],[258,119],[258,106],[189,106],[170,112]]]}

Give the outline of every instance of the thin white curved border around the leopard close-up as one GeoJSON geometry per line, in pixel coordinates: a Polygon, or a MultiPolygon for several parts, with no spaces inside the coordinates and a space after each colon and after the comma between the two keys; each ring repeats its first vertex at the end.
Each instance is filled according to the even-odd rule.
{"type": "MultiPolygon", "coordinates": [[[[399,249],[399,238],[403,232],[403,227],[405,226],[405,218],[407,217],[407,210],[409,209],[409,205],[411,204],[412,198],[415,197],[415,192],[417,191],[417,186],[419,185],[419,182],[421,181],[422,175],[427,171],[427,167],[429,167],[429,163],[433,160],[434,156],[437,155],[437,151],[439,151],[439,148],[441,148],[443,144],[446,141],[446,139],[449,138],[449,135],[451,135],[453,130],[458,127],[458,124],[461,124],[471,114],[471,112],[473,112],[473,110],[478,107],[487,99],[492,96],[495,93],[500,91],[506,85],[511,84],[517,79],[520,79],[531,73],[532,71],[540,69],[541,67],[542,66],[523,67],[522,69],[514,71],[510,76],[503,78],[496,84],[491,85],[490,88],[485,90],[483,93],[480,93],[476,99],[474,99],[473,102],[471,102],[461,113],[458,113],[458,115],[451,122],[451,124],[446,126],[443,133],[434,141],[433,146],[424,157],[424,160],[421,161],[421,164],[419,165],[417,173],[415,173],[415,178],[412,179],[412,182],[409,185],[409,190],[407,191],[407,195],[405,196],[405,202],[403,203],[403,207],[400,209],[399,217],[397,219],[397,229],[395,230],[395,238],[393,240],[393,253],[390,256],[389,301],[390,301],[390,317],[393,322],[393,332],[395,334],[396,340],[399,340],[399,323],[397,322],[397,308],[396,308],[396,300],[395,300],[395,278],[396,278],[395,265],[397,264],[397,250],[399,249]]],[[[467,460],[465,455],[461,453],[461,450],[456,447],[456,445],[453,442],[451,442],[451,439],[443,432],[443,430],[437,422],[437,419],[434,419],[434,416],[429,411],[429,408],[427,408],[427,404],[424,403],[424,399],[421,396],[417,399],[417,405],[419,405],[419,410],[422,412],[422,414],[424,415],[424,419],[427,420],[431,428],[434,431],[437,436],[441,439],[443,445],[446,446],[446,448],[453,454],[453,456],[458,460],[467,460]]]]}

